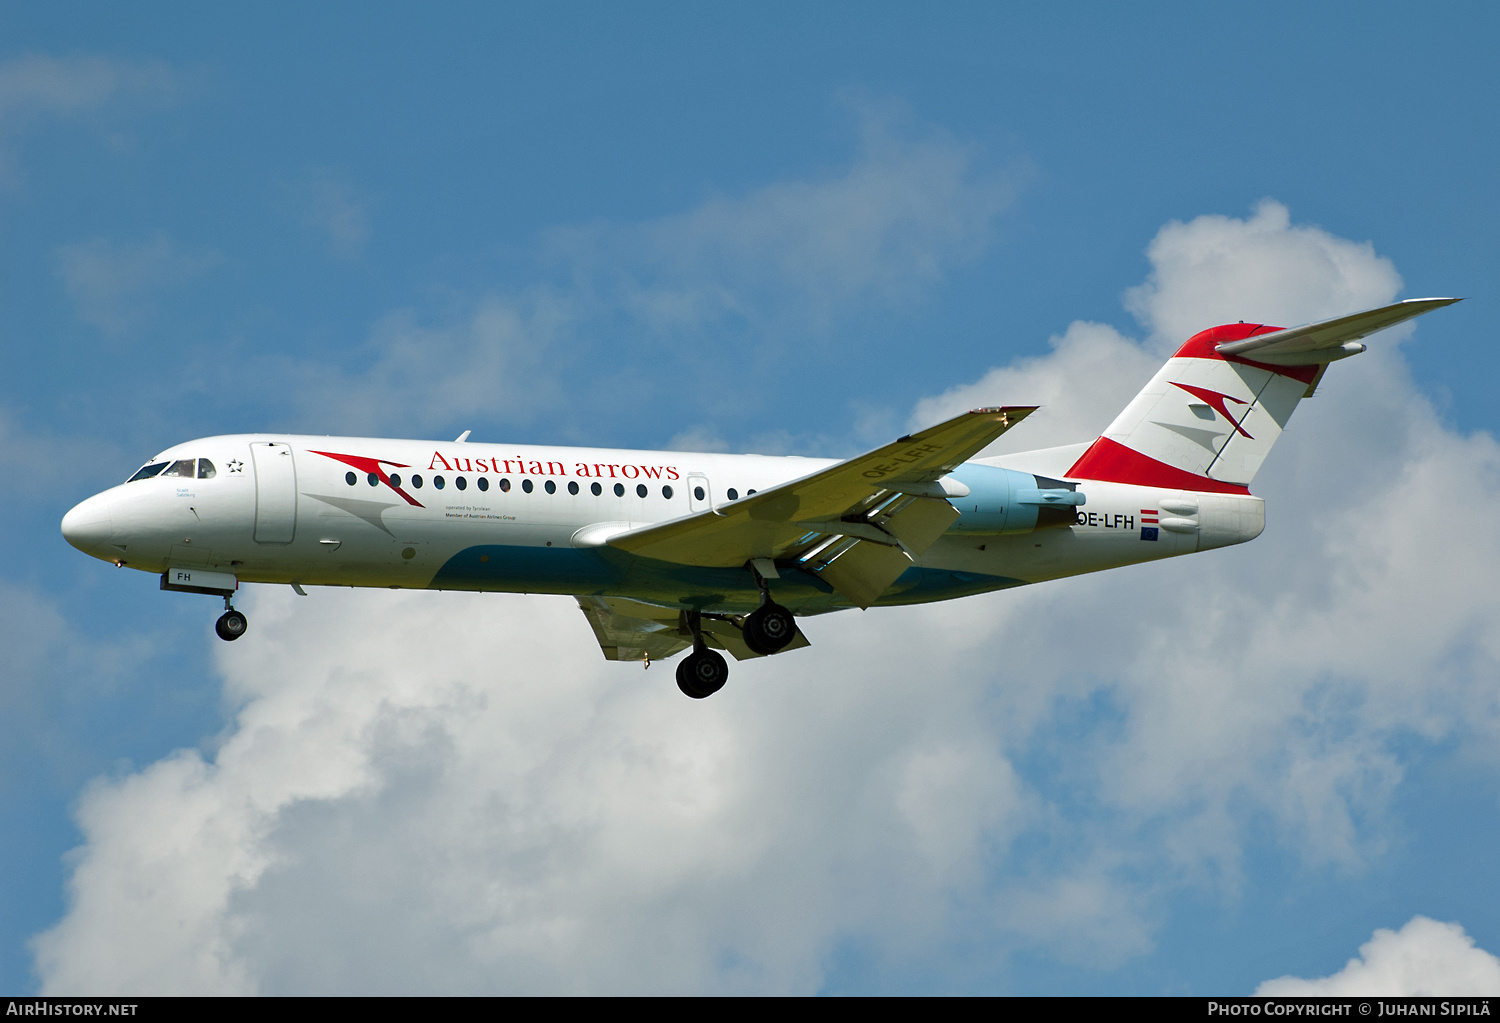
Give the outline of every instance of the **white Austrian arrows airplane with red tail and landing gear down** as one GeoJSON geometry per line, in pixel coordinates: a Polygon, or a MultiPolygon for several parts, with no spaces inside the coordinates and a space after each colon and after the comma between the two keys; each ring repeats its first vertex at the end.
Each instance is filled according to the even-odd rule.
{"type": "Polygon", "coordinates": [[[1036,406],[976,408],[856,458],[249,434],[166,448],[63,518],[160,588],[568,594],[609,660],[690,650],[676,684],[808,640],[798,620],[927,603],[1245,543],[1250,482],[1328,366],[1458,298],[1190,338],[1102,435],[976,458],[1036,406]]]}

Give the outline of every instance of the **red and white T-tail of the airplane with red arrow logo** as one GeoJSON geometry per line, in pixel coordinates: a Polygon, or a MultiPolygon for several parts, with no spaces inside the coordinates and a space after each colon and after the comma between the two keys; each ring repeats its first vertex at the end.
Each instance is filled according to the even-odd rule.
{"type": "Polygon", "coordinates": [[[1250,494],[1292,410],[1360,338],[1458,298],[1408,298],[1306,327],[1224,324],[1190,338],[1066,476],[1250,494]]]}

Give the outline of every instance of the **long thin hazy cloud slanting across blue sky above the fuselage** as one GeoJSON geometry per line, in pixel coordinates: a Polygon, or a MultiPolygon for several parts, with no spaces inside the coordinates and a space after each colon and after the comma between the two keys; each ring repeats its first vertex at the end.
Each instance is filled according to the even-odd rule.
{"type": "MultiPolygon", "coordinates": [[[[978,255],[1022,177],[891,111],[855,112],[860,150],[840,171],[678,216],[550,231],[543,256],[558,282],[496,290],[446,315],[393,312],[364,366],[300,368],[303,408],[339,429],[526,422],[564,393],[578,400],[578,384],[562,381],[580,368],[602,381],[596,406],[774,388],[788,358],[830,344],[836,318],[910,303],[978,255]],[[352,418],[332,420],[330,408],[352,418]]],[[[327,198],[360,242],[363,207],[345,208],[345,192],[327,198]]]]}

